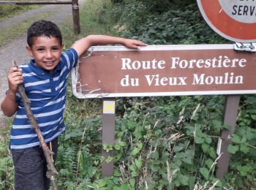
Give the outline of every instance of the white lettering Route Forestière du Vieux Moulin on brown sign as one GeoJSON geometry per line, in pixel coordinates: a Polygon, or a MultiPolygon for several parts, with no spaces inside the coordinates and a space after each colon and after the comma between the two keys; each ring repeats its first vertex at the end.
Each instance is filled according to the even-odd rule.
{"type": "MultiPolygon", "coordinates": [[[[256,1],[256,0],[255,0],[256,1]]],[[[209,85],[239,85],[244,84],[244,76],[235,75],[234,72],[223,72],[218,76],[206,75],[205,73],[198,73],[198,70],[192,72],[189,77],[184,76],[170,76],[176,74],[178,69],[233,69],[233,68],[244,68],[246,66],[246,58],[229,58],[228,56],[222,55],[213,58],[206,59],[184,59],[181,57],[170,57],[170,62],[167,63],[164,60],[157,61],[153,59],[151,61],[143,60],[131,60],[130,58],[121,58],[121,69],[122,70],[147,70],[154,69],[155,74],[146,74],[144,78],[141,77],[130,77],[125,75],[121,79],[120,84],[122,87],[139,87],[140,81],[146,83],[148,86],[209,86],[209,85]],[[168,66],[165,65],[168,64],[168,66]],[[158,70],[157,70],[158,69],[158,70]],[[162,76],[160,69],[170,69],[170,75],[162,76]],[[189,80],[190,78],[190,80],[189,80]]]]}

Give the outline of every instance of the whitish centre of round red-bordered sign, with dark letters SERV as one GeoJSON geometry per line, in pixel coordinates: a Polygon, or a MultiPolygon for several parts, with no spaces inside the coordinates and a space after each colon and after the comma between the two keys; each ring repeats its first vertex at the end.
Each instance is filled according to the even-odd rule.
{"type": "Polygon", "coordinates": [[[255,0],[219,0],[227,15],[241,23],[256,23],[255,0]]]}

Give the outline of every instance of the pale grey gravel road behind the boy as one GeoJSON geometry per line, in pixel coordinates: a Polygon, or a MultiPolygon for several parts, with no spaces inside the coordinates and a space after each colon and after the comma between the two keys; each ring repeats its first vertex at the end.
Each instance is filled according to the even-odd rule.
{"type": "MultiPolygon", "coordinates": [[[[86,0],[79,0],[79,5],[83,5],[86,0]]],[[[32,9],[28,12],[16,15],[9,20],[0,22],[0,28],[10,27],[13,24],[22,22],[27,18],[33,18],[37,14],[44,12],[50,13],[48,18],[45,20],[52,20],[54,23],[59,25],[65,23],[69,18],[72,18],[72,7],[71,4],[49,4],[37,9],[32,9]]],[[[7,45],[0,47],[0,102],[4,99],[5,92],[7,90],[7,72],[12,66],[12,60],[17,61],[18,64],[24,63],[29,60],[29,54],[26,52],[26,34],[18,39],[13,39],[7,45]]],[[[3,126],[4,115],[0,108],[0,126],[3,126]]]]}

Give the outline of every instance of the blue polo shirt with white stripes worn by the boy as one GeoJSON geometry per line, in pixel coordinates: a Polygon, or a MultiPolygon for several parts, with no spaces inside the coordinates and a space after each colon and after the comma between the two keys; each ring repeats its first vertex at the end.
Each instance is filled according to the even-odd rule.
{"type": "MultiPolygon", "coordinates": [[[[69,49],[61,54],[61,61],[53,73],[39,68],[34,59],[20,65],[23,86],[31,102],[31,111],[37,119],[45,142],[49,142],[65,131],[63,113],[66,102],[67,78],[78,61],[78,53],[69,49]]],[[[20,95],[16,96],[18,110],[10,134],[10,148],[24,149],[39,145],[34,129],[31,128],[20,95]]]]}

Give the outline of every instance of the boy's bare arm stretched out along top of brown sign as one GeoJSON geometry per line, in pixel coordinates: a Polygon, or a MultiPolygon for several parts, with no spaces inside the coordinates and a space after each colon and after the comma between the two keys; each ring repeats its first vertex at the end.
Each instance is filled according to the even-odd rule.
{"type": "Polygon", "coordinates": [[[144,42],[141,42],[136,39],[125,39],[121,37],[110,37],[105,35],[89,35],[88,37],[84,37],[76,41],[72,48],[74,48],[78,56],[82,56],[83,53],[88,50],[92,45],[108,45],[108,44],[121,44],[126,47],[133,49],[140,49],[140,46],[145,46],[144,42]]]}

